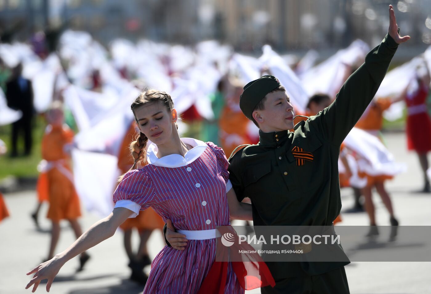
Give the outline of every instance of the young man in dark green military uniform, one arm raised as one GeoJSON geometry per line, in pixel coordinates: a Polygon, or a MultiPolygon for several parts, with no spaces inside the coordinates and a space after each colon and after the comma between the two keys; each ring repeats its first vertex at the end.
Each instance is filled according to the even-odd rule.
{"type": "MultiPolygon", "coordinates": [[[[238,201],[252,201],[255,226],[331,226],[340,213],[341,142],[375,96],[398,44],[410,38],[398,34],[392,6],[389,15],[388,34],[347,79],[337,99],[295,127],[293,106],[274,76],[244,87],[240,108],[258,125],[260,140],[231,158],[229,173],[238,201]]],[[[167,240],[176,248],[184,246],[172,229],[167,240]]],[[[262,294],[349,293],[348,263],[269,262],[276,285],[262,288],[262,294]]]]}

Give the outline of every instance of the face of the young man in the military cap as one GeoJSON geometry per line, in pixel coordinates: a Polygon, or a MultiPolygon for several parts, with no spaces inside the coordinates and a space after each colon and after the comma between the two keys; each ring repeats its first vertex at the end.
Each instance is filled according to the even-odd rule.
{"type": "Polygon", "coordinates": [[[294,107],[286,91],[273,91],[266,94],[264,110],[253,111],[253,117],[262,132],[279,132],[294,127],[294,107]]]}

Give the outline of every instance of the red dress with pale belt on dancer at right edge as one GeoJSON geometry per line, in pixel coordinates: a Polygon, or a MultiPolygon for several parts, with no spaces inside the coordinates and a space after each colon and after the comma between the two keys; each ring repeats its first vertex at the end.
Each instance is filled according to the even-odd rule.
{"type": "Polygon", "coordinates": [[[426,99],[428,86],[421,85],[414,94],[406,96],[407,105],[407,147],[418,153],[431,151],[431,120],[426,99]]]}

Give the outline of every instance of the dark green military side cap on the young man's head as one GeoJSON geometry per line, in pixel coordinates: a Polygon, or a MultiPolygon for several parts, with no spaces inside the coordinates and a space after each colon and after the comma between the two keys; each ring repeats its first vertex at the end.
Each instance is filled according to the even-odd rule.
{"type": "Polygon", "coordinates": [[[253,109],[257,103],[272,90],[280,87],[280,82],[271,74],[264,75],[257,80],[252,80],[244,86],[244,92],[240,96],[240,108],[250,120],[253,118],[253,109]]]}

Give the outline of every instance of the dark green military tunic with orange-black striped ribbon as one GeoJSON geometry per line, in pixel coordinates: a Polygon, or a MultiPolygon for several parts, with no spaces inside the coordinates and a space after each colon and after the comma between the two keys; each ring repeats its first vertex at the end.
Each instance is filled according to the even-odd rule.
{"type": "MultiPolygon", "coordinates": [[[[338,155],[378,90],[398,44],[387,35],[341,87],[337,99],[294,128],[260,131],[230,160],[238,201],[249,197],[255,226],[331,226],[340,214],[338,155]]],[[[349,262],[269,262],[275,279],[318,275],[349,262]]]]}

